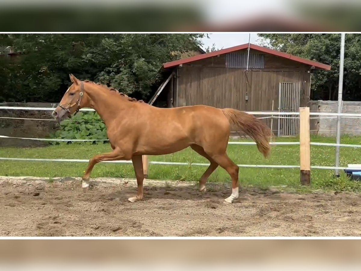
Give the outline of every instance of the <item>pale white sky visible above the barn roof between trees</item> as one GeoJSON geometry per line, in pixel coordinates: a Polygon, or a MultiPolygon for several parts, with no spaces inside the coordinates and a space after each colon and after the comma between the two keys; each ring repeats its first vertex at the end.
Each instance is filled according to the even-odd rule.
{"type": "MultiPolygon", "coordinates": [[[[203,49],[212,47],[213,43],[216,46],[216,49],[225,49],[232,46],[237,46],[240,44],[248,43],[249,33],[213,33],[209,34],[209,39],[205,36],[202,39],[204,43],[203,49]]],[[[251,33],[250,42],[253,44],[258,44],[258,36],[256,33],[251,33]]]]}

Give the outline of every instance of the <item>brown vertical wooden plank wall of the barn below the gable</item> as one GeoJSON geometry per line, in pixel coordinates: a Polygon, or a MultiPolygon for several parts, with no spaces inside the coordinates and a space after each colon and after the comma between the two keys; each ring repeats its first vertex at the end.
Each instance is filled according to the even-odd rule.
{"type": "MultiPolygon", "coordinates": [[[[178,68],[178,106],[205,104],[242,111],[271,111],[273,100],[274,110],[277,111],[280,82],[301,82],[300,106],[307,106],[310,74],[306,71],[246,72],[236,68],[183,66],[178,68]]],[[[266,119],[266,122],[270,126],[270,119],[266,119]]],[[[272,129],[277,130],[277,127],[277,119],[274,119],[272,129]]]]}

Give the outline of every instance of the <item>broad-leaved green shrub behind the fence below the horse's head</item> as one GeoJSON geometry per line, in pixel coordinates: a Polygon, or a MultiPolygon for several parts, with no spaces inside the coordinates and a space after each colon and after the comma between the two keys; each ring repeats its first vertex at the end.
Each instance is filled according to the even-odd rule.
{"type": "MultiPolygon", "coordinates": [[[[103,144],[108,139],[103,120],[96,112],[78,112],[71,119],[60,122],[60,129],[50,135],[57,139],[101,139],[99,141],[68,141],[66,143],[103,144]],[[104,139],[104,140],[103,140],[104,139]]],[[[58,141],[50,141],[52,145],[60,144],[58,141]]]]}

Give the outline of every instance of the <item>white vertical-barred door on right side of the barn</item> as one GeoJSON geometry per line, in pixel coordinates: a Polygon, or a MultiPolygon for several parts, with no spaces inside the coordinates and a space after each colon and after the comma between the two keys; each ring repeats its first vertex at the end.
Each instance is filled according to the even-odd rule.
{"type": "MultiPolygon", "coordinates": [[[[279,83],[279,112],[300,111],[300,89],[301,82],[279,83]]],[[[297,136],[299,132],[298,115],[278,116],[278,136],[297,136]]]]}

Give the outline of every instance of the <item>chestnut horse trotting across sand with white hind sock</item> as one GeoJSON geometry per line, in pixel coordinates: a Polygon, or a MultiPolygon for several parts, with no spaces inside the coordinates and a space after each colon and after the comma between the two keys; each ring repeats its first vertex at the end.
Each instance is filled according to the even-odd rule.
{"type": "Polygon", "coordinates": [[[88,188],[90,173],[96,163],[112,160],[132,160],[138,193],[128,200],[143,198],[142,155],[171,154],[191,147],[209,160],[210,165],[200,177],[199,189],[220,165],[232,178],[232,193],[226,202],[238,198],[238,165],[227,156],[231,131],[244,132],[256,143],[258,150],[268,157],[271,129],[260,119],[232,108],[196,105],[158,108],[137,101],[100,83],[81,81],[70,74],[72,85],[53,111],[56,120],[78,112],[80,108],[95,109],[106,128],[113,151],[90,159],[82,177],[82,187],[88,188]]]}

